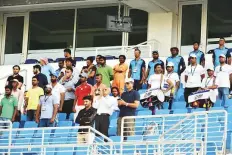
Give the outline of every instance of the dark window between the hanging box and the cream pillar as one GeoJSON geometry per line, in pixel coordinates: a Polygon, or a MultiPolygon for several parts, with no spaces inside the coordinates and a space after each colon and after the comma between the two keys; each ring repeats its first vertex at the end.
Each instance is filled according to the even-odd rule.
{"type": "Polygon", "coordinates": [[[129,45],[137,45],[147,41],[148,13],[142,10],[131,9],[132,32],[129,33],[129,45]]]}

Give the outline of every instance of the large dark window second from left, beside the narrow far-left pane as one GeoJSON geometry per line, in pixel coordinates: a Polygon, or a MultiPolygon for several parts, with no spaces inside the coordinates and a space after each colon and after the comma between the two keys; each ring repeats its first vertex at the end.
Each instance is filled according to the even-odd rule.
{"type": "Polygon", "coordinates": [[[31,12],[29,50],[71,48],[74,14],[75,10],[31,12]]]}

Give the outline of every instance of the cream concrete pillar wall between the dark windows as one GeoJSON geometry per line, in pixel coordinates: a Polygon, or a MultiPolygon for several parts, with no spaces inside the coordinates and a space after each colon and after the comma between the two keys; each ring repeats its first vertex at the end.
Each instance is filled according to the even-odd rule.
{"type": "Polygon", "coordinates": [[[160,56],[170,55],[170,47],[176,46],[177,42],[177,16],[169,13],[149,13],[148,15],[148,38],[160,42],[160,56]]]}

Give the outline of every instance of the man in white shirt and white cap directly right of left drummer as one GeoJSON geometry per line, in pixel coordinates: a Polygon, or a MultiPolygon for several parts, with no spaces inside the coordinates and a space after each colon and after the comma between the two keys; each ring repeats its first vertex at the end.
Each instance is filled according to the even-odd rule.
{"type": "Polygon", "coordinates": [[[173,88],[165,93],[166,101],[169,102],[168,109],[172,109],[173,99],[175,97],[175,93],[178,91],[180,86],[180,78],[177,73],[174,72],[174,64],[169,62],[166,67],[167,73],[164,76],[165,81],[170,80],[173,84],[173,88]]]}

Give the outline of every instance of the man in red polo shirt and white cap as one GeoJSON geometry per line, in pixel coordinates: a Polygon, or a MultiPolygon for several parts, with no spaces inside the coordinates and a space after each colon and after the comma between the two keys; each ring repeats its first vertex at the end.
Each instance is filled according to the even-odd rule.
{"type": "Polygon", "coordinates": [[[92,86],[87,83],[87,79],[88,79],[88,74],[84,72],[80,74],[81,84],[76,88],[75,100],[73,103],[73,111],[75,112],[74,114],[75,118],[78,115],[79,111],[85,108],[83,97],[92,95],[92,86]]]}

